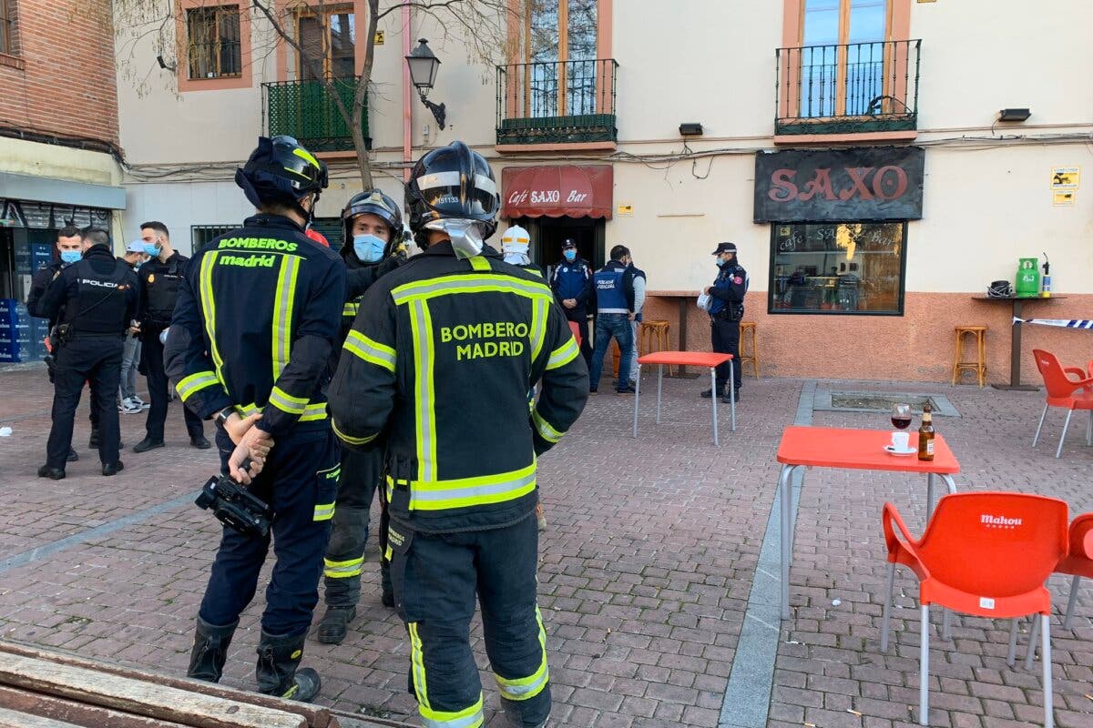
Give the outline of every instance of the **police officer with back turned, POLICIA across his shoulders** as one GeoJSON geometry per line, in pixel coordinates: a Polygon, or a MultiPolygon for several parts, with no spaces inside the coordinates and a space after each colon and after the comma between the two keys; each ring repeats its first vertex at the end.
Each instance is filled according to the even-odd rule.
{"type": "Polygon", "coordinates": [[[72,447],[72,418],[80,391],[92,382],[98,409],[98,457],[103,475],[122,468],[118,460],[118,410],[114,398],[121,378],[121,337],[137,312],[137,276],[110,252],[110,236],[102,228],[82,235],[86,253],[66,267],[49,284],[38,310],[50,320],[59,318],[57,372],[54,390],[52,428],[46,445],[46,464],[38,477],[60,480],[72,447]],[[63,310],[63,315],[61,311],[63,310]]]}

